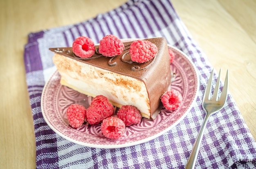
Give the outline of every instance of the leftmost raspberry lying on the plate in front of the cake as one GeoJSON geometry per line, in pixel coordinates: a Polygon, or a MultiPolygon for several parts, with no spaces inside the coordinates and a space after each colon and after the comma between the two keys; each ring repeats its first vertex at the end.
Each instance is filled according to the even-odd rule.
{"type": "Polygon", "coordinates": [[[74,128],[81,127],[85,120],[85,107],[72,104],[67,108],[67,120],[74,128]]]}

